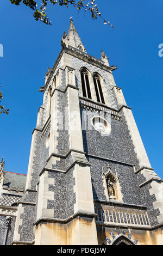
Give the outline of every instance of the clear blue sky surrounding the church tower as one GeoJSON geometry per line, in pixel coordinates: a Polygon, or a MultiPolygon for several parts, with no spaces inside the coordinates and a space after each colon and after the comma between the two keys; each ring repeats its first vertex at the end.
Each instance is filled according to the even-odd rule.
{"type": "Polygon", "coordinates": [[[60,40],[73,16],[80,37],[89,54],[100,58],[103,49],[110,65],[117,65],[114,78],[123,89],[155,172],[162,170],[162,65],[159,44],[162,36],[162,0],[96,0],[99,10],[115,29],[93,21],[74,8],[51,7],[52,26],[36,22],[32,10],[9,0],[1,0],[0,84],[3,104],[9,115],[0,115],[0,157],[5,170],[27,173],[32,131],[37,110],[42,105],[38,92],[45,72],[52,68],[61,50],[60,40]]]}

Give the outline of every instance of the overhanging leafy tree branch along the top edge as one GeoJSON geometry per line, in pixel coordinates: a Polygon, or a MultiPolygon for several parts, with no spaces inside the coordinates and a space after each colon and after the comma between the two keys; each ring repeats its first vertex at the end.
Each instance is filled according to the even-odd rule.
{"type": "Polygon", "coordinates": [[[53,5],[59,4],[60,6],[66,6],[69,7],[69,5],[72,5],[73,7],[77,8],[78,10],[83,9],[84,11],[90,11],[92,19],[97,19],[97,17],[101,17],[103,19],[104,24],[110,25],[112,28],[113,26],[110,24],[110,21],[106,21],[101,13],[98,11],[97,4],[95,3],[95,0],[91,1],[85,1],[85,0],[40,0],[41,6],[39,9],[37,9],[39,0],[10,0],[10,3],[15,5],[20,5],[22,2],[26,6],[28,6],[30,9],[34,11],[33,16],[35,17],[36,21],[41,21],[43,23],[46,23],[47,25],[51,25],[51,21],[49,20],[49,17],[46,14],[48,3],[51,3],[53,5]]]}

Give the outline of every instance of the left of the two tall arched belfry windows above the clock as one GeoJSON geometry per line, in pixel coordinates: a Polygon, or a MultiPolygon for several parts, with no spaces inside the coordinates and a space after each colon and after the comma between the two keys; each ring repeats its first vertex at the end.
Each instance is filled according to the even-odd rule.
{"type": "Polygon", "coordinates": [[[89,99],[92,99],[88,71],[85,68],[83,68],[80,71],[80,73],[81,73],[81,79],[82,79],[83,97],[87,97],[89,99]]]}

